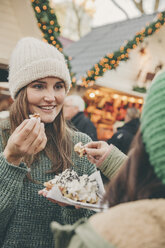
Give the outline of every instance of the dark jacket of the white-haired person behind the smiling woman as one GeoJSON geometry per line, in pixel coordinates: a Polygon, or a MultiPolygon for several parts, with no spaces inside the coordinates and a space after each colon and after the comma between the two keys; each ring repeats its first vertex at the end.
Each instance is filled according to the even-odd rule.
{"type": "Polygon", "coordinates": [[[85,116],[84,112],[77,113],[71,123],[82,133],[86,133],[93,141],[97,140],[97,132],[91,120],[85,116]]]}

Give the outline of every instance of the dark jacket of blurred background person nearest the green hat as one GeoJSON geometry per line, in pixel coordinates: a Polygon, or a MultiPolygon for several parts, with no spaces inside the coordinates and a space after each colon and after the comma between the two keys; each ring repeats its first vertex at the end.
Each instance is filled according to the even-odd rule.
{"type": "Polygon", "coordinates": [[[117,132],[107,141],[108,144],[113,144],[122,152],[127,154],[131,142],[139,128],[140,121],[138,118],[133,119],[118,128],[117,132]]]}

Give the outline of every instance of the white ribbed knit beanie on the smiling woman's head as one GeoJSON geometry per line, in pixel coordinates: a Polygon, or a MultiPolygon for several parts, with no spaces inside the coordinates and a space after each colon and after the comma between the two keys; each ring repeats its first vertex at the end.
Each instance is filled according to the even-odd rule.
{"type": "Polygon", "coordinates": [[[9,62],[9,90],[14,99],[21,88],[44,77],[58,77],[69,91],[71,78],[64,55],[52,45],[33,37],[22,38],[9,62]]]}

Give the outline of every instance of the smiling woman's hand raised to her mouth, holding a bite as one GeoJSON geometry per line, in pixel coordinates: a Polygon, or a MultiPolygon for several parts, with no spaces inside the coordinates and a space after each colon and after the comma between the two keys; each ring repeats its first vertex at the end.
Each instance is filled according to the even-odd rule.
{"type": "Polygon", "coordinates": [[[37,119],[24,120],[12,133],[4,150],[9,163],[19,165],[25,155],[33,155],[46,146],[44,124],[37,119]]]}

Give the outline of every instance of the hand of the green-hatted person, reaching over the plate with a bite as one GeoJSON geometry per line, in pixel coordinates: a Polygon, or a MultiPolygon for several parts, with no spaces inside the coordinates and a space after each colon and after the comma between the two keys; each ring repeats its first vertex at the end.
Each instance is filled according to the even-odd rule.
{"type": "Polygon", "coordinates": [[[84,146],[88,160],[96,166],[100,166],[100,160],[109,154],[111,147],[105,141],[90,142],[84,146]]]}

